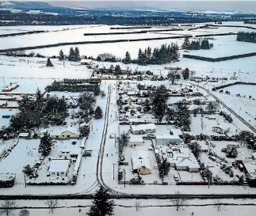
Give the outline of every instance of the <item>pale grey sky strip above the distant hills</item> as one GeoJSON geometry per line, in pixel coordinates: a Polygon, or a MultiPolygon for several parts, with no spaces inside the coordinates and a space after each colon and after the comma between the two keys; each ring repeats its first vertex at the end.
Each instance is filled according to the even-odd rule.
{"type": "Polygon", "coordinates": [[[51,1],[49,3],[53,6],[86,7],[96,9],[189,9],[200,11],[256,10],[256,1],[51,1]]]}

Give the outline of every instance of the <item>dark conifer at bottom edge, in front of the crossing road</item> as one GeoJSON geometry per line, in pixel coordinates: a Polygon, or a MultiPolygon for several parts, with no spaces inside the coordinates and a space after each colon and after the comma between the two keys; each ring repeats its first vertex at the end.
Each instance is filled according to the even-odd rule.
{"type": "Polygon", "coordinates": [[[101,186],[94,195],[93,205],[87,215],[110,216],[113,215],[114,201],[109,199],[109,191],[101,186]]]}

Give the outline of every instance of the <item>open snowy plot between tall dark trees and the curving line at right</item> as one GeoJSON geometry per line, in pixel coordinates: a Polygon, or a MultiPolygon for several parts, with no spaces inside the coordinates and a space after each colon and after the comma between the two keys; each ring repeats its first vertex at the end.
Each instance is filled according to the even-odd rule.
{"type": "Polygon", "coordinates": [[[197,117],[191,115],[192,123],[190,126],[192,135],[220,135],[215,131],[212,131],[212,127],[220,127],[224,131],[228,131],[228,135],[235,135],[239,133],[239,127],[236,127],[234,123],[228,123],[224,116],[219,115],[204,115],[197,114],[197,117]],[[213,119],[211,119],[213,118],[213,119]],[[216,119],[214,119],[216,118],[216,119]]]}

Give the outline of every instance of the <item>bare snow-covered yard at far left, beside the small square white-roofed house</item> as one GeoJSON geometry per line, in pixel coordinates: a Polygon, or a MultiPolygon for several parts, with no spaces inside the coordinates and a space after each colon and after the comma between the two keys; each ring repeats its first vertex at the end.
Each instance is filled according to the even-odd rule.
{"type": "MultiPolygon", "coordinates": [[[[8,141],[7,145],[10,145],[8,141]]],[[[10,155],[0,162],[1,173],[15,173],[15,183],[24,183],[22,169],[25,165],[35,165],[36,159],[40,157],[38,146],[40,139],[20,139],[17,146],[11,151],[10,155]]]]}

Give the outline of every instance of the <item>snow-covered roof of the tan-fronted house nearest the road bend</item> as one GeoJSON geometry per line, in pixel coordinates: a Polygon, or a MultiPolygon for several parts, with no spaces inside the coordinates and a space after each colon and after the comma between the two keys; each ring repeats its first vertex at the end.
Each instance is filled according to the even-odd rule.
{"type": "Polygon", "coordinates": [[[142,167],[151,169],[151,162],[149,161],[147,151],[133,151],[132,152],[132,167],[133,167],[133,169],[139,169],[142,167]]]}

